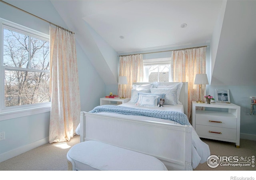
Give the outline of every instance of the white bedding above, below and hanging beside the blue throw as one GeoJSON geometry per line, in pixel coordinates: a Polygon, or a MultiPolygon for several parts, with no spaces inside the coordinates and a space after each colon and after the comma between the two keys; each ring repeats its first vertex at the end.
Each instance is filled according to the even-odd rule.
{"type": "MultiPolygon", "coordinates": [[[[150,106],[136,106],[133,102],[127,102],[124,104],[120,104],[118,106],[133,107],[133,108],[137,107],[137,108],[146,108],[146,109],[155,109],[155,110],[169,110],[169,111],[178,111],[178,112],[184,113],[184,109],[181,104],[178,104],[176,106],[164,104],[164,106],[160,108],[160,107],[150,107],[150,106]]],[[[131,118],[131,119],[138,120],[138,116],[133,116],[133,115],[115,114],[115,113],[110,113],[110,112],[99,112],[99,114],[105,114],[105,115],[109,115],[109,116],[118,116],[118,117],[129,116],[129,118],[131,118]]],[[[177,122],[173,122],[170,120],[144,117],[144,116],[140,116],[139,120],[178,124],[177,122]]],[[[76,134],[78,134],[78,135],[80,134],[80,124],[76,128],[76,134]]],[[[210,156],[209,146],[207,144],[205,144],[204,142],[202,142],[202,140],[200,140],[198,134],[192,127],[192,167],[196,168],[199,163],[206,162],[206,160],[209,156],[210,156]]]]}

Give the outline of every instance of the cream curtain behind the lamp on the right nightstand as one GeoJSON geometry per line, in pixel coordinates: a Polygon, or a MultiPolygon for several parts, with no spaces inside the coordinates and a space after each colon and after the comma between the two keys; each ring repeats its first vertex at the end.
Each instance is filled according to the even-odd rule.
{"type": "MultiPolygon", "coordinates": [[[[194,84],[196,74],[206,73],[206,47],[172,51],[172,82],[188,82],[188,119],[191,121],[191,101],[199,98],[199,85],[194,84]]],[[[202,85],[202,96],[206,85],[202,85]]]]}

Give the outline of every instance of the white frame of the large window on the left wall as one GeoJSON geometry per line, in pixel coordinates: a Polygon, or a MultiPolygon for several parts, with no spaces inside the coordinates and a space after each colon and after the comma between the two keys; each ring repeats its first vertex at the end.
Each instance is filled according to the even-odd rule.
{"type": "MultiPolygon", "coordinates": [[[[0,44],[0,60],[1,60],[1,68],[0,68],[0,116],[1,120],[4,120],[5,116],[3,115],[8,115],[12,113],[17,113],[17,112],[24,112],[24,115],[28,115],[28,111],[32,111],[32,114],[38,114],[42,112],[48,112],[50,111],[51,107],[51,102],[44,102],[44,103],[38,103],[38,104],[26,104],[26,105],[21,105],[21,106],[11,106],[11,107],[5,107],[4,106],[4,72],[5,70],[21,70],[21,71],[28,71],[28,72],[49,72],[50,70],[37,70],[37,69],[28,69],[28,68],[17,68],[13,66],[4,66],[3,64],[3,43],[4,43],[4,28],[9,29],[9,30],[14,30],[19,33],[26,33],[26,35],[33,36],[35,38],[40,38],[41,40],[45,40],[50,42],[50,35],[44,34],[42,32],[38,32],[36,30],[32,30],[30,28],[27,28],[25,26],[16,24],[14,22],[10,22],[8,20],[4,20],[0,18],[0,37],[1,37],[1,44],[0,44]],[[38,112],[38,113],[37,113],[38,112]]],[[[17,116],[22,116],[22,114],[17,115],[17,116]]],[[[15,116],[16,117],[16,116],[15,116]]]]}

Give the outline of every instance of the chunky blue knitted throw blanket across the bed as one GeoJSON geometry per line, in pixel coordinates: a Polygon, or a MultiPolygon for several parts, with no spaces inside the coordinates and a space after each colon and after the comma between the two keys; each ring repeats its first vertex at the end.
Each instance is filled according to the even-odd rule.
{"type": "Polygon", "coordinates": [[[186,114],[182,112],[176,112],[176,111],[160,111],[160,110],[152,110],[152,109],[129,108],[124,106],[116,106],[116,105],[102,105],[102,106],[95,107],[93,110],[89,112],[90,113],[112,112],[112,113],[134,115],[134,116],[148,116],[152,118],[175,121],[182,125],[190,125],[186,114]]]}

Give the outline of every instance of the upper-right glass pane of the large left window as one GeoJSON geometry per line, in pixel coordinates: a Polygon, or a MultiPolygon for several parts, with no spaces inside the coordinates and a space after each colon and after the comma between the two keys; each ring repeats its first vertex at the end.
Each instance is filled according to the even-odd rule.
{"type": "Polygon", "coordinates": [[[31,37],[30,67],[39,70],[49,70],[49,42],[31,37]]]}

